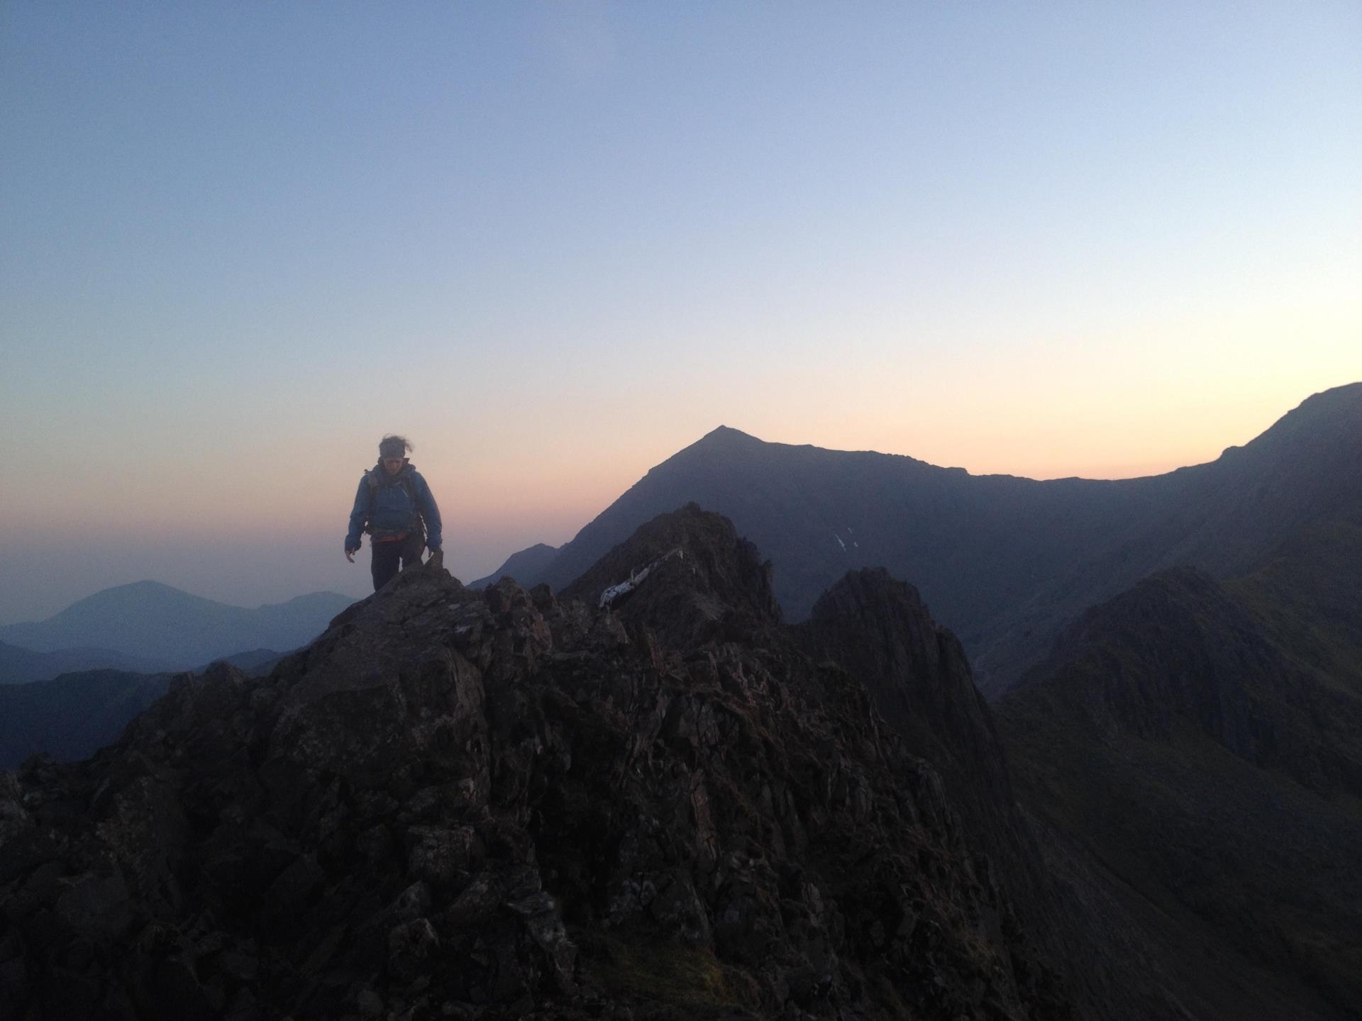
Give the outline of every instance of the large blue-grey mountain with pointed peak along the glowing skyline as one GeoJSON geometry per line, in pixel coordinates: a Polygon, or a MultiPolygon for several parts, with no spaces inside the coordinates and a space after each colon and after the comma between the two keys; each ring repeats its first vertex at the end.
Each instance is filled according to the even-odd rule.
{"type": "Polygon", "coordinates": [[[493,577],[563,588],[639,524],[689,501],[733,519],[771,557],[793,619],[849,568],[910,580],[997,694],[1066,621],[1139,579],[1178,564],[1231,576],[1294,530],[1362,504],[1362,384],[1314,395],[1209,464],[1122,481],[975,476],[719,427],[652,468],[538,572],[493,577]]]}

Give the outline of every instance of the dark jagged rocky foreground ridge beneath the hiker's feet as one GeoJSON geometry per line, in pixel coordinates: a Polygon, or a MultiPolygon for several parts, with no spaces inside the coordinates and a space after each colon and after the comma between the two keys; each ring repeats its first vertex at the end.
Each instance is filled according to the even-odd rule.
{"type": "Polygon", "coordinates": [[[957,644],[849,585],[801,633],[689,506],[561,596],[428,565],[181,678],[0,775],[0,1017],[1077,1016],[857,672],[972,712],[957,644]]]}

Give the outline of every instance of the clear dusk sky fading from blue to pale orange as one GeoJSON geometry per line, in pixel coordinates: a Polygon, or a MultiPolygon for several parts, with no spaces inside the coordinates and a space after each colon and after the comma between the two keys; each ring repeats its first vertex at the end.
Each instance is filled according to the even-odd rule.
{"type": "Polygon", "coordinates": [[[1214,460],[1362,380],[1362,5],[0,4],[0,623],[470,580],[718,425],[1214,460]]]}

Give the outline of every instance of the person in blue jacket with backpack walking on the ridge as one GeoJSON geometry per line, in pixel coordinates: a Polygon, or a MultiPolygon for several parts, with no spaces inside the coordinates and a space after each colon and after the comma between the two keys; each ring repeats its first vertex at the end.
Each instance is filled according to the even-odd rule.
{"type": "Polygon", "coordinates": [[[407,460],[411,444],[403,436],[385,436],[379,442],[379,463],[364,472],[354,494],[350,531],[345,536],[345,558],[354,564],[360,532],[369,534],[373,549],[373,591],[398,573],[398,564],[410,568],[421,562],[421,550],[440,555],[440,508],[421,472],[407,460]]]}

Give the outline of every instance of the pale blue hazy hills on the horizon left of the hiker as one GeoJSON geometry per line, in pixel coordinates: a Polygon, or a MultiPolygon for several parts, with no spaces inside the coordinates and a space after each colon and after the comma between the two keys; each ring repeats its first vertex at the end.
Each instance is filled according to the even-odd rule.
{"type": "Polygon", "coordinates": [[[304,645],[353,602],[312,592],[247,610],[157,581],[135,581],[95,592],[46,621],[0,628],[0,641],[39,652],[106,648],[188,670],[242,649],[304,645]]]}

